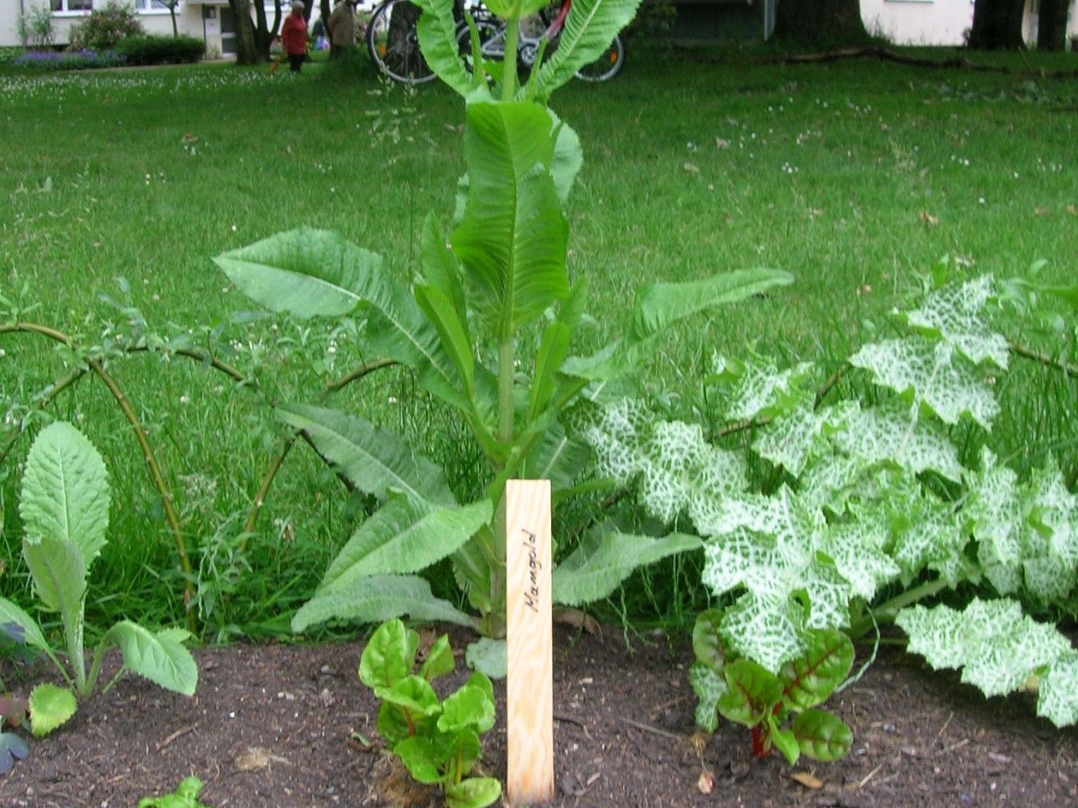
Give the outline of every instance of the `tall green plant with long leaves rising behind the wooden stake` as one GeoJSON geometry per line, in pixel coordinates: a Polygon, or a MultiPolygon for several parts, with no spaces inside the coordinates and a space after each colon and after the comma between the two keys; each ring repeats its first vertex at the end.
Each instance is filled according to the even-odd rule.
{"type": "MultiPolygon", "coordinates": [[[[628,332],[590,357],[573,357],[584,318],[584,280],[570,280],[563,205],[582,163],[576,133],[547,99],[594,60],[633,17],[639,0],[578,0],[561,44],[523,86],[515,64],[466,67],[453,3],[421,0],[419,37],[428,64],[467,103],[467,175],[446,240],[428,217],[416,276],[400,282],[376,253],[327,232],[279,234],[217,259],[259,304],[302,318],[363,321],[363,350],[411,368],[426,394],[454,409],[488,461],[485,492],[460,503],[453,482],[403,438],[363,418],[309,404],[277,408],[317,451],[379,506],[328,569],[292,627],[330,618],[368,622],[410,614],[505,635],[503,490],[513,477],[549,478],[555,497],[573,492],[582,446],[564,414],[609,381],[632,375],[671,323],[733,303],[790,277],[742,270],[642,291],[628,332]],[[524,352],[523,346],[535,346],[524,352]],[[417,575],[448,557],[476,614],[440,600],[417,575]]],[[[544,0],[487,3],[506,19],[507,52],[522,16],[544,0]]],[[[700,539],[611,533],[581,547],[554,573],[554,599],[569,605],[607,596],[642,563],[699,547],[700,539]]]]}

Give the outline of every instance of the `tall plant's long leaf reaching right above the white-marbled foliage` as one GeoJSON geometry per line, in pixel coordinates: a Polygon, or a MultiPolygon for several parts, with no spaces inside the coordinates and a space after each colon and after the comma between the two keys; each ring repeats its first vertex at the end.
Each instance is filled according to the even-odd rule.
{"type": "Polygon", "coordinates": [[[711,306],[736,303],[792,282],[789,273],[761,268],[738,269],[700,281],[653,284],[637,301],[633,328],[625,337],[591,357],[566,360],[563,370],[596,381],[617,378],[651,359],[648,352],[651,340],[674,322],[711,306]]]}

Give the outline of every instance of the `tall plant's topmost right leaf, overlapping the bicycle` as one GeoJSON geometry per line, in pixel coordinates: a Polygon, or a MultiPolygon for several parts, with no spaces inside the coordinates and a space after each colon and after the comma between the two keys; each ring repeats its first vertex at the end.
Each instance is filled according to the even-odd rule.
{"type": "Polygon", "coordinates": [[[580,68],[603,55],[639,5],[640,0],[573,0],[557,50],[533,73],[522,93],[528,98],[550,98],[580,68]]]}

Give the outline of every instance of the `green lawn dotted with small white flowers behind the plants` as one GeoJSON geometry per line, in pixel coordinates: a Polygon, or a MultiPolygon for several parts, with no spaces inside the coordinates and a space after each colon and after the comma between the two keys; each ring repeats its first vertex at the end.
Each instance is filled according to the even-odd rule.
{"type": "MultiPolygon", "coordinates": [[[[833,370],[869,338],[868,323],[886,328],[886,312],[942,255],[998,277],[1044,259],[1046,277],[1073,282],[1078,88],[1027,70],[1073,70],[1074,56],[992,57],[1014,74],[721,56],[632,52],[617,81],[571,84],[553,105],[585,152],[568,207],[570,271],[589,279],[596,342],[624,324],[635,290],[654,279],[745,266],[798,277],[661,345],[645,385],[675,414],[701,405],[699,380],[716,351],[833,370]]],[[[255,535],[237,543],[222,525],[243,525],[280,451],[284,433],[262,398],[312,400],[362,354],[321,323],[240,317],[250,304],[210,257],[307,225],[342,232],[407,277],[424,217],[448,223],[464,168],[461,105],[437,85],[414,95],[387,87],[365,62],[300,76],[231,66],[2,69],[0,121],[0,293],[25,285],[37,304],[26,319],[91,343],[102,330],[130,331],[124,307],[135,307],[151,331],[188,332],[264,385],[261,394],[235,389],[161,354],[110,366],[160,452],[189,543],[208,548],[194,563],[211,637],[285,633],[363,503],[298,448],[255,535]]],[[[24,401],[70,363],[25,335],[0,336],[0,387],[24,401]]],[[[1026,363],[1001,389],[1004,447],[1078,462],[1074,379],[1026,363]]],[[[381,372],[341,396],[420,438],[436,459],[475,464],[458,424],[418,401],[406,375],[381,372]]],[[[79,422],[112,474],[112,544],[94,579],[107,582],[98,593],[116,594],[94,609],[181,621],[175,544],[126,422],[89,379],[50,413],[79,422]]],[[[27,448],[24,437],[0,469],[5,594],[26,586],[15,502],[27,448]]],[[[682,622],[686,600],[701,596],[691,571],[673,577],[682,582],[674,593],[638,581],[627,608],[682,622]]]]}

